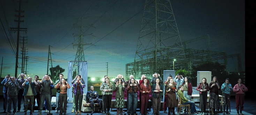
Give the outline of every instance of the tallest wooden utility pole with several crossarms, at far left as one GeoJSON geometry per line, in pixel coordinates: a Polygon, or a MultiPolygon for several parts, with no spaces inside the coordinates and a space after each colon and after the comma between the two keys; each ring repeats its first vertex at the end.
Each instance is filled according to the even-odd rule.
{"type": "Polygon", "coordinates": [[[11,31],[17,31],[16,62],[15,62],[15,75],[14,75],[14,76],[17,76],[20,31],[27,31],[27,28],[20,28],[20,23],[24,22],[24,20],[21,20],[21,17],[24,17],[24,15],[21,15],[21,13],[24,13],[24,11],[21,11],[21,0],[19,0],[19,10],[15,10],[15,12],[18,12],[18,15],[15,15],[15,17],[18,17],[18,20],[14,20],[15,22],[18,22],[18,27],[17,28],[10,28],[10,30],[11,31]]]}

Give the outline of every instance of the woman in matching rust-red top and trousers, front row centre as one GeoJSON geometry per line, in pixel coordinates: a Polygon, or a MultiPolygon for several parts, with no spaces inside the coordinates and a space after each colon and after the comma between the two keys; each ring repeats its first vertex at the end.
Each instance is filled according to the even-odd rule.
{"type": "Polygon", "coordinates": [[[148,79],[144,78],[144,83],[140,85],[141,92],[141,115],[147,114],[149,93],[151,92],[151,87],[148,83],[148,79]]]}

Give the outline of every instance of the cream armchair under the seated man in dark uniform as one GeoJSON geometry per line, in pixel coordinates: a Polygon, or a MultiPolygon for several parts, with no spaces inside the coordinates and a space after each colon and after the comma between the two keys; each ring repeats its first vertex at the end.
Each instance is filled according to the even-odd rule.
{"type": "MultiPolygon", "coordinates": [[[[86,94],[83,94],[83,101],[82,101],[82,107],[81,107],[82,112],[92,112],[91,110],[91,103],[89,103],[86,100],[86,94]]],[[[99,112],[99,103],[94,103],[94,112],[99,112]]]]}

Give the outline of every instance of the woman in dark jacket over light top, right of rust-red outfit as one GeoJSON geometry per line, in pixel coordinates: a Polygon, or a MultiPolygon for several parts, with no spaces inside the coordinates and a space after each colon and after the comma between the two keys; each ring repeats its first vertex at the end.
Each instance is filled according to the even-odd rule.
{"type": "Polygon", "coordinates": [[[163,85],[159,84],[159,78],[156,79],[156,84],[152,85],[152,99],[153,99],[153,113],[154,115],[159,115],[160,111],[160,104],[161,104],[161,97],[163,92],[163,85]]]}

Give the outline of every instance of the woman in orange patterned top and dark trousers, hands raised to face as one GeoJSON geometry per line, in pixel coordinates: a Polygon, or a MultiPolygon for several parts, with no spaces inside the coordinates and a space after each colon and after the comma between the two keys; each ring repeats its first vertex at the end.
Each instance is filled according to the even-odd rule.
{"type": "Polygon", "coordinates": [[[61,81],[56,85],[55,89],[60,88],[60,97],[59,97],[59,102],[60,102],[60,115],[64,113],[66,115],[67,113],[67,89],[70,88],[69,84],[67,83],[65,78],[62,78],[61,81]],[[64,105],[63,105],[64,103],[64,105]],[[63,106],[62,106],[63,105],[63,106]]]}

